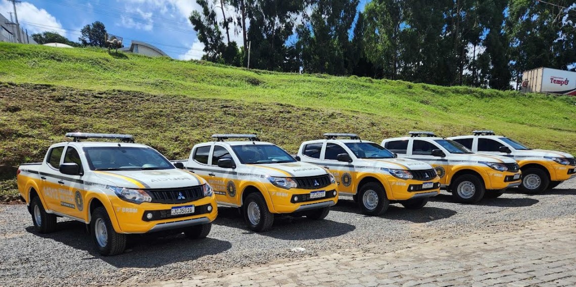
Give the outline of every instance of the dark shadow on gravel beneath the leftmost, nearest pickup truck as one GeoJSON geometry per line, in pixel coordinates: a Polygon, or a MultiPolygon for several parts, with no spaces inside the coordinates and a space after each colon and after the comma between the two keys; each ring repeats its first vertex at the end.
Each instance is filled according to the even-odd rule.
{"type": "MultiPolygon", "coordinates": [[[[153,268],[175,262],[194,260],[206,255],[214,255],[232,248],[229,241],[211,239],[191,240],[182,233],[151,233],[148,235],[130,235],[126,251],[116,256],[101,256],[93,246],[92,238],[86,232],[85,224],[78,221],[58,222],[55,232],[37,233],[34,226],[26,231],[46,239],[56,240],[79,250],[86,250],[90,255],[78,258],[83,260],[103,260],[118,268],[153,268]]],[[[210,236],[210,235],[209,235],[210,236]]]]}

